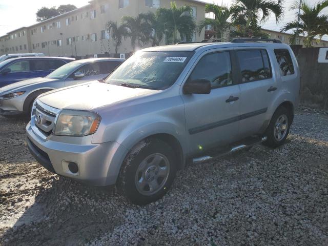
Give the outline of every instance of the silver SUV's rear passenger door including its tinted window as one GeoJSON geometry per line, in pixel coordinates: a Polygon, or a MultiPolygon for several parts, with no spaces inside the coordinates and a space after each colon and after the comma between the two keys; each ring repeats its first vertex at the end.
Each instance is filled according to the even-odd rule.
{"type": "Polygon", "coordinates": [[[239,64],[239,138],[262,133],[265,116],[277,91],[268,51],[264,48],[235,48],[239,64]]]}

